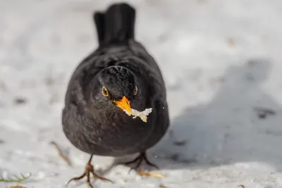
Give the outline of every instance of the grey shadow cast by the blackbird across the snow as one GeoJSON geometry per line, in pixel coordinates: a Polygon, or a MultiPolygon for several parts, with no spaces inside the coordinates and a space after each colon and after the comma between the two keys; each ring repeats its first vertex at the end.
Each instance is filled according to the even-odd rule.
{"type": "Polygon", "coordinates": [[[281,106],[262,89],[270,70],[265,58],[228,68],[212,101],[172,120],[151,151],[165,159],[154,162],[162,169],[263,162],[282,170],[281,106]]]}

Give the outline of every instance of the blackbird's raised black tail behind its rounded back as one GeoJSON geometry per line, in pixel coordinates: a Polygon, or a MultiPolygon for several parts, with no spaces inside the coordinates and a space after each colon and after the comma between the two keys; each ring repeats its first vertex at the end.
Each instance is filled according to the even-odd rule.
{"type": "Polygon", "coordinates": [[[94,13],[99,45],[122,44],[134,39],[135,8],[128,4],[113,4],[104,12],[94,13]]]}

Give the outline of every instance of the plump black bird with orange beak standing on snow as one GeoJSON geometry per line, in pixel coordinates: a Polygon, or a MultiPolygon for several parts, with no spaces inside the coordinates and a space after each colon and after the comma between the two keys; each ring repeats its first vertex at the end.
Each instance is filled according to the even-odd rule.
{"type": "MultiPolygon", "coordinates": [[[[112,4],[94,12],[99,46],[75,69],[66,91],[63,132],[76,148],[91,155],[85,173],[94,172],[92,156],[125,156],[140,153],[133,169],[147,160],[146,151],[166,134],[170,119],[163,76],[154,58],[135,40],[135,8],[112,4]],[[147,122],[128,115],[133,109],[152,108],[147,122]],[[125,113],[125,111],[127,113],[125,113]]],[[[109,180],[111,181],[111,180],[109,180]]]]}

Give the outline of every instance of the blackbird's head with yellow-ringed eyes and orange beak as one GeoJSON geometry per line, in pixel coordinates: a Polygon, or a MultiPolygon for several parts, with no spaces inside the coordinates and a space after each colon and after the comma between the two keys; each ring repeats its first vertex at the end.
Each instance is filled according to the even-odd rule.
{"type": "Polygon", "coordinates": [[[136,98],[142,99],[140,84],[128,68],[111,66],[102,70],[97,78],[99,84],[92,89],[91,95],[100,104],[115,105],[131,113],[130,103],[136,98]]]}

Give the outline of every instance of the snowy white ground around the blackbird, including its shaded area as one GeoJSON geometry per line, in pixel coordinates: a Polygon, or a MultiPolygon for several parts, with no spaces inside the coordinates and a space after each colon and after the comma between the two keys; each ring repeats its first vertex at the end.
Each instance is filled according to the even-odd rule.
{"type": "MultiPolygon", "coordinates": [[[[66,84],[97,47],[92,11],[114,1],[0,1],[0,174],[59,188],[85,168],[61,127],[66,84]],[[52,140],[73,163],[69,167],[52,140]]],[[[94,187],[282,187],[282,1],[134,0],[137,39],[157,59],[171,127],[149,157],[166,178],[106,170],[94,187]],[[256,108],[274,114],[259,118],[256,108]]],[[[263,116],[263,115],[261,115],[263,116]]],[[[105,170],[114,158],[93,158],[105,170]]],[[[9,187],[15,183],[4,184],[9,187]]],[[[86,187],[85,180],[69,187],[86,187]]]]}

